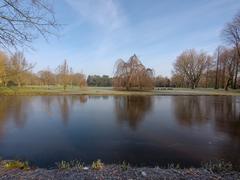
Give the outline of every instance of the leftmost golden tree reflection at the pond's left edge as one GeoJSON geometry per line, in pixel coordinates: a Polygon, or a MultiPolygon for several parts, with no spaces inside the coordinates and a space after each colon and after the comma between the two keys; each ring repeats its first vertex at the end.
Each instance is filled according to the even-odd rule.
{"type": "Polygon", "coordinates": [[[31,97],[0,97],[0,137],[4,134],[4,125],[13,119],[18,128],[24,127],[31,97]]]}

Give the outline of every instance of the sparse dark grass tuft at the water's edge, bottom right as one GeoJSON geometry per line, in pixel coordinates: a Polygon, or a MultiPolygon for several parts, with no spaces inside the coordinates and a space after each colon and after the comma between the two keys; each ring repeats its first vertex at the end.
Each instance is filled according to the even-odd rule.
{"type": "Polygon", "coordinates": [[[203,164],[203,168],[210,172],[220,173],[220,172],[230,172],[233,170],[233,166],[230,162],[219,161],[209,161],[203,164]]]}

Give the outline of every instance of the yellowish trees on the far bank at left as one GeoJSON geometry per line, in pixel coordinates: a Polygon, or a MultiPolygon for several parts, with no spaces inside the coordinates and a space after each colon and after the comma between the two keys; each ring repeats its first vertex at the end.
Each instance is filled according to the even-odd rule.
{"type": "Polygon", "coordinates": [[[8,56],[0,52],[0,86],[26,85],[61,85],[64,90],[67,86],[85,86],[86,77],[83,73],[74,72],[64,60],[55,71],[46,68],[37,73],[32,72],[34,65],[29,63],[22,52],[8,56]]]}

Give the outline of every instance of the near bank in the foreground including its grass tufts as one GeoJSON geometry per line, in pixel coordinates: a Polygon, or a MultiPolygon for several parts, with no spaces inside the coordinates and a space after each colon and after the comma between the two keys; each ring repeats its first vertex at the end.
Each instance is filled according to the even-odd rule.
{"type": "Polygon", "coordinates": [[[62,161],[56,169],[23,168],[21,161],[0,161],[1,179],[239,179],[240,173],[230,163],[207,163],[200,168],[132,167],[122,164],[104,165],[100,160],[90,166],[78,161],[62,161]],[[77,162],[77,163],[76,163],[77,162]],[[11,168],[8,168],[10,164],[11,168]],[[17,164],[17,166],[16,166],[17,164]],[[76,166],[74,166],[76,164],[76,166]],[[12,166],[13,165],[13,166],[12,166]]]}

